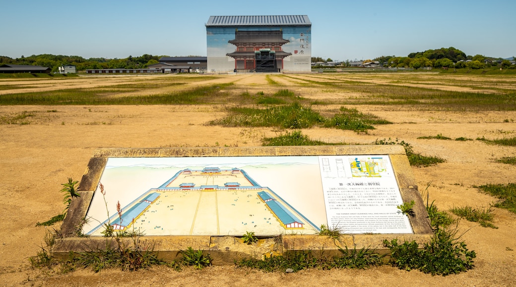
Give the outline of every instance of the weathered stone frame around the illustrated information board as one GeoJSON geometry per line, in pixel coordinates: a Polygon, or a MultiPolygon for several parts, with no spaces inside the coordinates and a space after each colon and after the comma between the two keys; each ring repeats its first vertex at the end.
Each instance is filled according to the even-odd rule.
{"type": "MultiPolygon", "coordinates": [[[[214,265],[233,265],[242,258],[263,259],[271,255],[284,255],[298,250],[312,250],[314,255],[333,256],[340,248],[372,248],[380,254],[389,253],[383,240],[398,239],[423,243],[430,239],[430,227],[425,204],[418,191],[405,149],[399,145],[377,146],[307,146],[307,147],[213,147],[213,148],[150,148],[150,149],[99,149],[93,153],[85,174],[80,181],[78,193],[70,204],[67,217],[61,225],[62,238],[56,239],[52,253],[65,258],[70,252],[79,253],[102,250],[116,246],[114,239],[104,237],[78,237],[77,228],[86,217],[93,193],[99,184],[108,157],[219,157],[219,156],[284,156],[284,155],[381,155],[390,157],[401,198],[414,201],[414,217],[410,223],[414,234],[354,234],[341,236],[334,241],[317,235],[280,235],[260,238],[259,244],[247,245],[237,237],[230,236],[142,236],[139,244],[151,246],[159,258],[174,260],[181,257],[181,250],[192,247],[210,254],[214,265]]],[[[127,238],[126,246],[133,239],[127,238]]]]}

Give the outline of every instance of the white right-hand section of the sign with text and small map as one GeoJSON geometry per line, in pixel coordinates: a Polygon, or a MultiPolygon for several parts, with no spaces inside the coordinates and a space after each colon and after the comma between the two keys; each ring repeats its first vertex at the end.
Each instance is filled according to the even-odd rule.
{"type": "Polygon", "coordinates": [[[328,226],[343,233],[412,233],[387,155],[320,156],[328,226]]]}

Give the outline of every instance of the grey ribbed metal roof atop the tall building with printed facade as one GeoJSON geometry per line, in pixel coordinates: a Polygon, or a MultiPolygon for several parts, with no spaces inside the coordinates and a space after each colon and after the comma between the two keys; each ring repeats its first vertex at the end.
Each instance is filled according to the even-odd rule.
{"type": "Polygon", "coordinates": [[[311,26],[308,15],[209,16],[206,27],[311,26]]]}

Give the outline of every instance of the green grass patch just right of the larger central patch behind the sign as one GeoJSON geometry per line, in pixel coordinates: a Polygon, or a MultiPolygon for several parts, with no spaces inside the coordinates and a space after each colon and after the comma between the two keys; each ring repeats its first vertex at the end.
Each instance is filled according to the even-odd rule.
{"type": "Polygon", "coordinates": [[[341,106],[341,113],[334,115],[328,119],[324,126],[327,128],[333,127],[341,130],[351,130],[355,132],[367,132],[367,130],[374,130],[373,124],[390,124],[392,122],[380,119],[373,114],[364,114],[357,109],[348,109],[341,106]]]}

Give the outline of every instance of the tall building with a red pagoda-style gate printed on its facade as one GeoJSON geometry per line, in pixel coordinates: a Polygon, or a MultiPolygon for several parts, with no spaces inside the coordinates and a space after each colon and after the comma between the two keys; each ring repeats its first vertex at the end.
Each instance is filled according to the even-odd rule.
{"type": "Polygon", "coordinates": [[[207,70],[310,72],[311,29],[307,15],[210,16],[207,70]]]}

